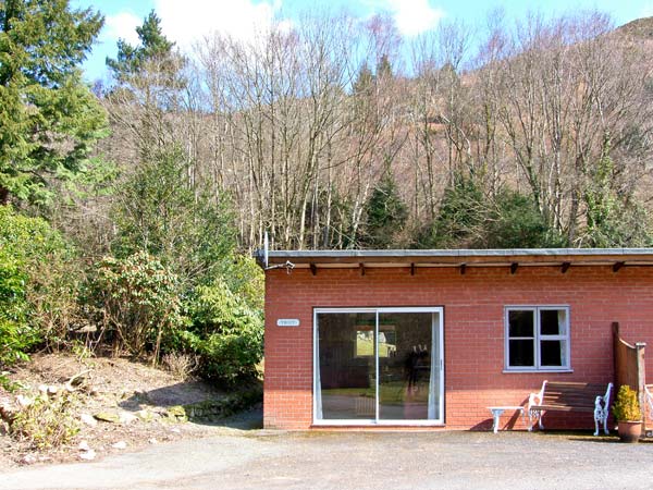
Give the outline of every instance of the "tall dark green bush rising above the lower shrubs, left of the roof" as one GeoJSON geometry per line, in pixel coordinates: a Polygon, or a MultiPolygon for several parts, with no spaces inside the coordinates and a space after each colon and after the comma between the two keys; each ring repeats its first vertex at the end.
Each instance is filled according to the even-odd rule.
{"type": "Polygon", "coordinates": [[[147,250],[187,287],[218,275],[235,246],[229,200],[192,187],[188,164],[178,149],[158,152],[127,179],[113,211],[115,256],[147,250]]]}

